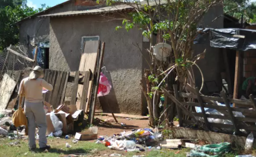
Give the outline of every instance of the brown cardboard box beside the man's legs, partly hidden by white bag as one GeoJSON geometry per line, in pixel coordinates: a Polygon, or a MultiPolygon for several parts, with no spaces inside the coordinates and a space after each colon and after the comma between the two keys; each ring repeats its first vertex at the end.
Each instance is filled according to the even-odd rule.
{"type": "MultiPolygon", "coordinates": [[[[67,134],[68,133],[68,129],[67,129],[66,114],[59,114],[59,113],[58,114],[54,113],[54,114],[59,118],[59,120],[63,124],[62,132],[64,134],[67,134]]],[[[55,131],[53,123],[52,123],[52,120],[51,120],[51,117],[50,117],[50,113],[46,114],[46,122],[47,122],[47,132],[46,132],[46,135],[49,135],[51,132],[55,131]]]]}

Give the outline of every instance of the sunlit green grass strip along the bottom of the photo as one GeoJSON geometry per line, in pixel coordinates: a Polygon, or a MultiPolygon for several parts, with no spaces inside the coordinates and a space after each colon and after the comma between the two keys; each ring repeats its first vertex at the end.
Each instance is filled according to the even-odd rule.
{"type": "MultiPolygon", "coordinates": [[[[81,153],[85,156],[103,156],[104,154],[118,153],[126,157],[133,157],[133,155],[146,155],[146,157],[186,157],[186,152],[190,152],[188,148],[182,148],[181,150],[169,150],[163,149],[161,151],[150,151],[150,152],[124,152],[108,150],[103,144],[95,144],[94,142],[79,141],[77,144],[72,143],[73,138],[68,140],[64,138],[56,139],[54,137],[48,138],[48,144],[51,146],[49,152],[42,152],[36,149],[31,152],[27,146],[28,140],[9,140],[5,138],[0,140],[0,157],[66,157],[69,154],[81,153]],[[10,146],[11,142],[20,141],[19,146],[10,146]],[[69,143],[72,145],[71,148],[65,147],[65,144],[69,143]],[[97,149],[96,152],[92,150],[97,149]],[[27,155],[25,156],[25,153],[27,155]]],[[[38,143],[38,141],[37,141],[38,143]]],[[[251,153],[254,153],[252,151],[251,153]]],[[[229,154],[225,154],[223,157],[235,157],[238,154],[245,154],[246,152],[241,152],[241,150],[233,150],[229,154]]],[[[250,154],[251,154],[250,153],[250,154]]],[[[249,153],[246,153],[249,154],[249,153]]],[[[83,156],[82,155],[82,156],[83,156]]]]}

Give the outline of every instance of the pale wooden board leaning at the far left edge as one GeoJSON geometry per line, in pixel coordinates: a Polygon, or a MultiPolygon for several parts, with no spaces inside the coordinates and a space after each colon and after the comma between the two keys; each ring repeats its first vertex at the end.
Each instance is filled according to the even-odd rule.
{"type": "Polygon", "coordinates": [[[9,75],[5,74],[0,82],[0,110],[5,109],[15,89],[15,82],[9,75]]]}

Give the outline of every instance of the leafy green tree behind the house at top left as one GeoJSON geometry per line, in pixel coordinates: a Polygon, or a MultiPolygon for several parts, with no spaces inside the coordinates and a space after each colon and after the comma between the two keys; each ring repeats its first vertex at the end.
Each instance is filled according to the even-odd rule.
{"type": "MultiPolygon", "coordinates": [[[[8,1],[8,0],[6,0],[8,1]]],[[[6,2],[4,1],[4,2],[6,2]]],[[[15,2],[15,1],[14,1],[15,2]]],[[[9,3],[9,2],[8,2],[9,3]]],[[[21,2],[19,2],[22,4],[21,2]]],[[[1,3],[2,6],[4,3],[1,3]]],[[[6,5],[7,3],[5,3],[6,5]]],[[[28,7],[27,5],[16,5],[9,3],[8,6],[0,8],[0,52],[8,47],[10,44],[17,44],[19,41],[19,28],[15,24],[16,22],[24,19],[28,16],[43,11],[45,5],[41,8],[34,10],[34,8],[28,7]]]]}

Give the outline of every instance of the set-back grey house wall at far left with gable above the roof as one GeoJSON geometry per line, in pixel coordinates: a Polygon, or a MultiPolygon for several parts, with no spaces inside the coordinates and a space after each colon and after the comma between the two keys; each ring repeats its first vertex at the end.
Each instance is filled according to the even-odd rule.
{"type": "MultiPolygon", "coordinates": [[[[44,14],[54,14],[66,11],[88,10],[103,7],[105,5],[98,5],[96,1],[88,1],[86,4],[79,5],[79,0],[69,0],[62,4],[56,5],[48,10],[44,10],[38,13],[36,16],[31,16],[28,19],[24,19],[18,23],[20,27],[20,45],[24,45],[28,48],[29,52],[34,48],[31,45],[31,41],[34,38],[35,43],[49,42],[49,17],[39,18],[44,14]],[[27,37],[29,36],[29,38],[27,37]],[[27,42],[29,39],[29,42],[27,42]]],[[[31,54],[30,54],[31,55],[31,54]]],[[[30,56],[31,57],[31,56],[30,56]]]]}

